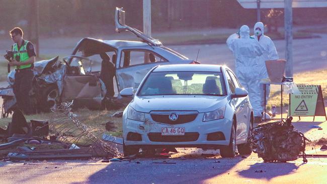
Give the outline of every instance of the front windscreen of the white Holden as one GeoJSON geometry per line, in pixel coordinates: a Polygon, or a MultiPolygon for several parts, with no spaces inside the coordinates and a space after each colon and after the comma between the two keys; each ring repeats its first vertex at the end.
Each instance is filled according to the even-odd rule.
{"type": "Polygon", "coordinates": [[[226,89],[221,72],[152,72],[137,96],[155,95],[226,96],[226,89]]]}

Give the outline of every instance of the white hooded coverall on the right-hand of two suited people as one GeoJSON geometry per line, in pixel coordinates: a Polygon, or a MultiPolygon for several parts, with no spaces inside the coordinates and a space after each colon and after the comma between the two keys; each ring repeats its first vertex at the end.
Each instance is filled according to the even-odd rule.
{"type": "MultiPolygon", "coordinates": [[[[259,65],[259,78],[260,79],[264,79],[264,78],[268,78],[268,73],[267,73],[267,68],[266,68],[266,60],[276,60],[279,59],[277,51],[276,51],[276,47],[273,43],[273,41],[266,35],[264,35],[264,24],[262,22],[257,22],[255,24],[254,27],[254,33],[255,35],[251,36],[252,38],[254,38],[256,41],[259,42],[259,44],[265,49],[265,53],[262,56],[259,56],[257,58],[257,63],[259,65]],[[259,37],[256,35],[256,29],[260,28],[262,34],[259,37]]],[[[265,100],[265,96],[264,96],[264,89],[263,89],[263,84],[260,84],[260,88],[261,88],[261,106],[262,108],[264,108],[264,100],[265,100]]],[[[267,101],[269,99],[269,93],[270,93],[270,86],[266,85],[266,104],[267,101]]]]}

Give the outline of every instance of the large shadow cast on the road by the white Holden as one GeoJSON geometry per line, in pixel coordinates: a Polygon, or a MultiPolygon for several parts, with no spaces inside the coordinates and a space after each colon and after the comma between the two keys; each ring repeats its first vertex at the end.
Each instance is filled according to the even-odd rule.
{"type": "Polygon", "coordinates": [[[182,153],[173,158],[144,157],[130,161],[111,162],[91,175],[91,183],[199,183],[229,172],[243,158],[221,158],[201,151],[182,153]]]}

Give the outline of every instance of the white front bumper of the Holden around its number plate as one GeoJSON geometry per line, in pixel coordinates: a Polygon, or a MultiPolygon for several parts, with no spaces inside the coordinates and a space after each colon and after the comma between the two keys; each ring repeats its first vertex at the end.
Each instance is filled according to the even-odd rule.
{"type": "Polygon", "coordinates": [[[135,147],[200,147],[216,148],[229,144],[232,122],[227,119],[203,122],[203,113],[194,121],[169,125],[153,121],[150,114],[145,114],[145,122],[123,117],[124,144],[135,147]],[[161,128],[183,127],[184,135],[161,135],[161,128]]]}

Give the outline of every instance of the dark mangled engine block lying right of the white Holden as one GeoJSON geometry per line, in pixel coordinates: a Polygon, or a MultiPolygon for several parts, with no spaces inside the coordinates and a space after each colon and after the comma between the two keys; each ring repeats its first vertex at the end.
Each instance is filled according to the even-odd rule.
{"type": "Polygon", "coordinates": [[[265,162],[286,162],[296,160],[301,154],[303,162],[307,162],[305,151],[305,141],[302,132],[294,130],[292,117],[259,125],[253,129],[250,136],[252,150],[258,153],[258,157],[265,162]]]}

